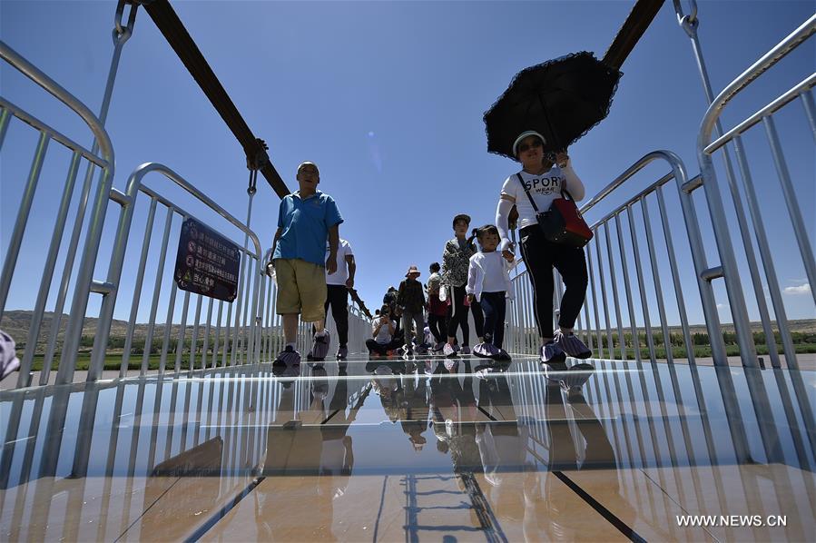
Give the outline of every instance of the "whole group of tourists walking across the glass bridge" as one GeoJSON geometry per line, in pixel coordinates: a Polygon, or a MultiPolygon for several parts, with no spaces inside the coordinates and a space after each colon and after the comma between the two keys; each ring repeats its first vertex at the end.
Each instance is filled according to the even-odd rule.
{"type": "MultiPolygon", "coordinates": [[[[573,333],[588,282],[584,249],[549,240],[538,217],[539,210],[548,210],[564,193],[575,201],[583,199],[585,187],[569,156],[544,153],[545,143],[544,136],[533,131],[516,138],[513,153],[522,169],[502,185],[495,223],[470,230],[470,217],[457,214],[452,222],[455,237],[445,243],[441,265],[430,265],[427,283],[418,281],[421,272],[412,265],[398,288],[388,289],[367,341],[372,355],[401,349],[408,355],[431,350],[447,358],[473,353],[493,360],[510,359],[502,346],[506,300],[515,297],[509,280],[509,271],[516,265],[516,246],[509,235],[514,207],[519,248],[533,287],[541,361],[553,364],[563,362],[566,356],[585,359],[592,355],[573,333]],[[554,268],[565,284],[555,327],[554,268]],[[473,315],[478,338],[472,350],[468,313],[473,315]],[[457,331],[461,331],[461,345],[457,331]]],[[[336,202],[317,189],[317,165],[301,163],[297,180],[299,189],[280,202],[269,263],[269,271],[274,271],[278,282],[277,312],[282,317],[285,341],[284,350],[274,361],[279,370],[300,365],[296,350],[299,316],[313,323],[309,360],[325,360],[329,353],[325,326],[329,307],[337,325],[337,359],[348,356],[346,308],[348,289],[354,284],[354,256],[349,243],[339,238],[343,219],[336,202]]]]}

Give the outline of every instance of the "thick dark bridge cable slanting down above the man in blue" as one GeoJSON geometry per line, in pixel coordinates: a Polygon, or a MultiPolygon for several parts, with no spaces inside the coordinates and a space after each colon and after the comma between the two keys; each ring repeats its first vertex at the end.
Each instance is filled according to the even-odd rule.
{"type": "Polygon", "coordinates": [[[232,103],[230,95],[224,90],[198,45],[195,44],[192,36],[182,24],[179,15],[176,15],[176,12],[172,9],[170,2],[168,0],[128,1],[144,6],[144,11],[147,12],[147,15],[150,15],[167,43],[170,44],[172,50],[192,75],[192,78],[206,94],[212,106],[221,115],[221,119],[224,120],[224,123],[227,123],[238,143],[241,143],[248,161],[259,155],[266,157],[260,171],[267,182],[270,183],[272,190],[280,198],[289,194],[290,191],[286,183],[280,178],[280,174],[269,160],[266,149],[260,143],[262,141],[252,134],[249,125],[243,120],[235,104],[232,103]]]}

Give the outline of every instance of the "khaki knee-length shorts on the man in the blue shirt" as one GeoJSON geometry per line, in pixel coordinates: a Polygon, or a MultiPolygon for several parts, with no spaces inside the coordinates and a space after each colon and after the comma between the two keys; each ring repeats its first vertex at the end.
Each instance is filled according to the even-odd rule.
{"type": "Polygon", "coordinates": [[[300,313],[303,322],[317,322],[325,315],[326,269],[300,259],[275,259],[279,315],[300,313]]]}

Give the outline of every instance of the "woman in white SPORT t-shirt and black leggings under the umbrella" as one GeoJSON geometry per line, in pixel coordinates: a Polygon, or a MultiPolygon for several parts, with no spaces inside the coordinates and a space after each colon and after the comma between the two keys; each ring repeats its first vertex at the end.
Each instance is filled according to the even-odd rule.
{"type": "Polygon", "coordinates": [[[573,333],[575,320],[584,305],[588,282],[584,249],[547,241],[536,220],[535,209],[549,209],[562,192],[569,193],[576,201],[583,199],[584,183],[573,171],[565,152],[555,153],[555,163],[546,157],[545,143],[545,137],[534,131],[516,137],[513,154],[522,164],[522,170],[507,177],[502,186],[496,208],[496,227],[502,240],[502,252],[513,252],[507,219],[516,205],[521,254],[533,285],[533,305],[542,345],[541,361],[553,363],[563,362],[566,355],[585,359],[592,356],[592,351],[573,333]],[[558,270],[565,284],[555,331],[551,331],[555,289],[553,268],[558,270]]]}

